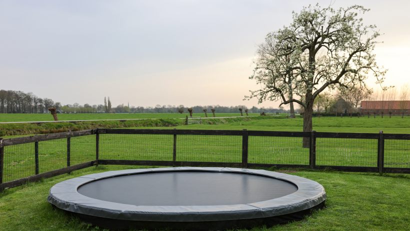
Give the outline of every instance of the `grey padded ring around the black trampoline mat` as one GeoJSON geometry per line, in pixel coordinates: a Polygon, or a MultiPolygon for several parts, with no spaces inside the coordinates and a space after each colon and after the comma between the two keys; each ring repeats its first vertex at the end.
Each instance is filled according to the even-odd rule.
{"type": "Polygon", "coordinates": [[[56,183],[50,188],[48,202],[56,207],[98,217],[145,221],[217,221],[263,218],[289,214],[311,208],[326,199],[322,185],[300,176],[262,169],[228,167],[162,167],[127,169],[94,173],[56,183]],[[118,175],[163,171],[220,171],[247,173],[282,179],[295,184],[297,191],[270,200],[249,204],[212,206],[136,206],[98,200],[77,192],[84,183],[118,175]]]}

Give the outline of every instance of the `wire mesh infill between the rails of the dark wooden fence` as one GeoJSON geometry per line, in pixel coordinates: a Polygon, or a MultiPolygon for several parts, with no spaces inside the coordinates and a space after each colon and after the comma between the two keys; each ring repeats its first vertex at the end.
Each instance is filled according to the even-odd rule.
{"type": "MultiPolygon", "coordinates": [[[[176,161],[182,163],[184,161],[215,162],[219,165],[234,163],[236,164],[234,166],[238,166],[237,163],[243,164],[243,161],[272,165],[312,164],[309,161],[311,150],[302,147],[303,137],[288,136],[289,133],[276,132],[275,136],[264,136],[266,133],[257,133],[258,131],[252,131],[254,135],[248,135],[245,131],[179,130],[177,133],[172,133],[176,131],[158,132],[158,130],[147,129],[145,133],[138,133],[138,131],[119,129],[119,131],[115,130],[115,133],[105,131],[96,136],[97,132],[97,130],[96,132],[84,130],[78,131],[75,135],[63,132],[49,138],[41,136],[36,139],[38,141],[32,141],[34,139],[31,138],[23,141],[21,138],[10,139],[15,140],[14,142],[8,140],[9,144],[1,147],[3,149],[2,172],[0,171],[2,182],[11,182],[78,164],[84,165],[76,167],[86,167],[93,164],[91,161],[96,160],[98,152],[100,160],[157,160],[169,163],[175,157],[176,161]],[[99,137],[98,152],[97,137],[99,137]],[[244,145],[242,140],[247,140],[246,152],[242,149],[244,145]],[[246,160],[242,159],[243,156],[246,160]]],[[[312,166],[364,167],[354,169],[366,171],[371,168],[374,171],[380,163],[383,164],[384,169],[409,171],[408,134],[389,134],[387,138],[382,138],[381,134],[379,138],[374,134],[360,134],[360,136],[357,133],[341,133],[344,137],[339,137],[339,134],[321,132],[321,137],[315,138],[313,152],[315,160],[312,166]],[[348,137],[349,134],[353,135],[353,138],[348,137]],[[383,152],[379,152],[378,148],[383,152]],[[379,160],[380,155],[383,156],[383,163],[379,160]]],[[[109,161],[107,163],[109,164],[109,161]]]]}

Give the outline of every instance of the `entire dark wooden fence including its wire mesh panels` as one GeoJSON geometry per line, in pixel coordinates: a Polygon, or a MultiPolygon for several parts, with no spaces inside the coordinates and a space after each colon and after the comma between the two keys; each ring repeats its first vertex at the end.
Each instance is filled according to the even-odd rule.
{"type": "MultiPolygon", "coordinates": [[[[384,134],[381,131],[379,133],[345,133],[246,129],[98,128],[7,139],[0,137],[0,190],[97,164],[245,168],[305,167],[330,168],[340,171],[410,173],[410,167],[408,167],[410,159],[406,159],[408,158],[408,148],[410,148],[410,134],[384,134]],[[128,137],[128,135],[136,136],[128,137]],[[76,137],[84,137],[84,139],[78,140],[76,137]],[[52,140],[58,142],[55,147],[53,146],[54,143],[51,143],[51,147],[44,150],[44,142],[56,142],[52,140]],[[308,141],[308,147],[302,147],[301,140],[308,141]],[[346,142],[349,140],[350,144],[352,142],[358,146],[352,147],[357,149],[356,152],[349,152],[348,148],[343,149],[343,146],[350,145],[343,143],[344,140],[346,142]],[[202,141],[203,143],[201,143],[202,141]],[[367,143],[367,146],[364,146],[366,149],[360,149],[362,142],[367,143]],[[141,149],[142,154],[136,153],[138,150],[135,148],[137,147],[141,149]],[[8,148],[14,149],[8,152],[8,148]],[[206,152],[208,148],[211,149],[210,152],[206,152]],[[293,152],[293,149],[298,149],[299,152],[293,152]],[[63,155],[64,157],[57,156],[56,159],[49,159],[52,157],[51,154],[51,157],[48,154],[41,154],[48,152],[52,152],[56,156],[63,155]],[[88,159],[84,157],[85,152],[87,152],[88,159]],[[264,159],[264,157],[274,156],[278,152],[281,153],[283,158],[290,156],[287,162],[281,158],[277,160],[273,158],[264,159]],[[331,159],[332,152],[340,152],[343,155],[341,156],[342,159],[340,156],[333,156],[334,159],[331,159]],[[209,153],[214,155],[213,158],[218,159],[211,159],[212,156],[208,156],[209,153]],[[356,156],[357,153],[366,154],[356,156]],[[404,157],[401,156],[402,153],[404,153],[404,157]],[[18,154],[22,156],[17,156],[18,154]],[[158,159],[152,159],[154,156],[158,157],[158,154],[158,159]],[[192,159],[193,157],[190,155],[197,156],[198,159],[192,159]],[[12,160],[13,158],[16,160],[12,160]],[[225,158],[225,161],[221,161],[223,158],[225,158]],[[326,160],[326,158],[330,159],[326,160]],[[359,164],[354,162],[349,164],[348,161],[354,158],[364,159],[362,162],[360,162],[361,159],[358,159],[359,164]],[[386,163],[386,158],[389,158],[388,163],[386,163]],[[31,161],[32,166],[30,165],[31,161]],[[58,164],[63,166],[58,169],[44,170],[44,164],[55,164],[47,161],[57,161],[58,164]],[[14,165],[20,163],[22,163],[22,166],[13,171],[14,165]],[[20,175],[23,177],[19,177],[20,175]]],[[[58,164],[56,166],[52,165],[51,168],[58,167],[58,164]]]]}

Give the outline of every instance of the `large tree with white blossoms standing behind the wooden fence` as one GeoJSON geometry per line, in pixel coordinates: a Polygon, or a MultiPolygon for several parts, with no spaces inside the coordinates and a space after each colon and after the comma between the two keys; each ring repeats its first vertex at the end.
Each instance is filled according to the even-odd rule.
{"type": "MultiPolygon", "coordinates": [[[[258,52],[250,78],[263,87],[251,91],[249,97],[300,104],[304,110],[303,131],[311,131],[313,101],[320,92],[365,87],[368,75],[381,83],[385,70],[377,65],[373,53],[380,34],[375,25],[363,25],[357,16],[366,11],[359,5],[335,10],[316,4],[293,12],[290,25],[266,36],[273,41],[270,49],[274,52],[266,52],[265,56],[258,52]]],[[[304,138],[303,146],[308,144],[304,138]]]]}

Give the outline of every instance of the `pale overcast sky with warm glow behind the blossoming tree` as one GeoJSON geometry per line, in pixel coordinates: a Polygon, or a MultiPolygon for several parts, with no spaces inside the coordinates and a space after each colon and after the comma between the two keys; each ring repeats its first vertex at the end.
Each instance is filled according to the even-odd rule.
{"type": "MultiPolygon", "coordinates": [[[[316,2],[0,0],[0,89],[62,104],[257,105],[242,100],[257,87],[248,79],[257,44],[316,2]]],[[[409,2],[333,2],[371,9],[363,19],[383,33],[375,53],[386,85],[410,82],[409,2]]]]}

